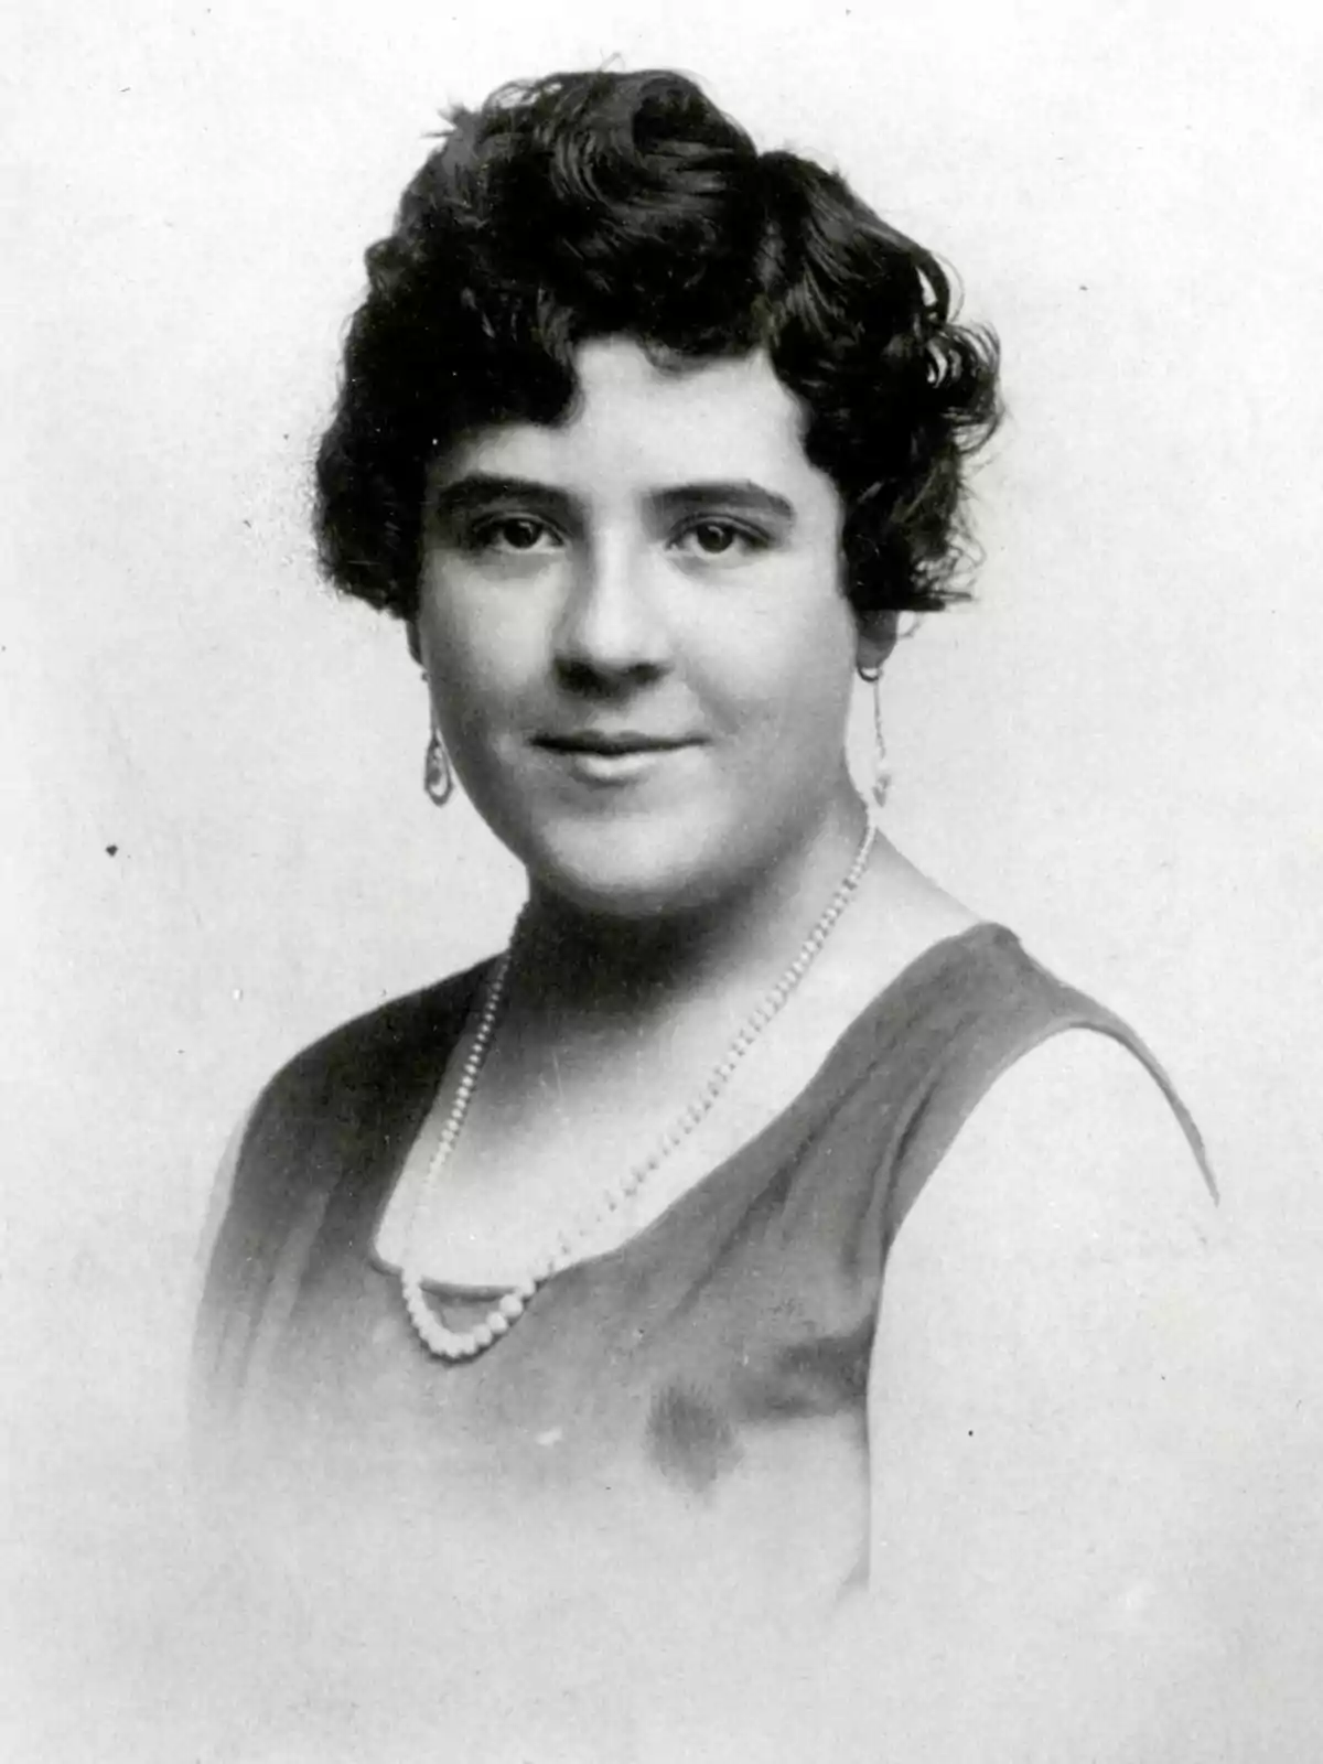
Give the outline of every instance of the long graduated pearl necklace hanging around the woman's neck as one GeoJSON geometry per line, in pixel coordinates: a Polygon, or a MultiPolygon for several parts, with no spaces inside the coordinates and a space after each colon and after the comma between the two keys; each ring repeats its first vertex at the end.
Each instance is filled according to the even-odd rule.
{"type": "Polygon", "coordinates": [[[790,993],[796,986],[799,986],[817,956],[822,953],[822,946],[831,937],[836,921],[850,905],[850,900],[859,887],[863,873],[868,868],[868,859],[873,854],[875,841],[877,824],[870,818],[868,831],[864,833],[863,843],[845,875],[845,880],[833,894],[818,923],[801,944],[799,954],[730,1043],[704,1088],[693,1102],[690,1102],[690,1106],[676,1117],[670,1127],[667,1127],[649,1155],[644,1157],[642,1162],[635,1164],[621,1182],[609,1187],[605,1194],[602,1194],[594,1205],[587,1207],[572,1226],[563,1230],[557,1235],[554,1247],[527,1268],[524,1277],[510,1288],[492,1311],[487,1312],[482,1323],[471,1330],[452,1330],[432,1314],[427,1300],[423,1298],[423,1281],[418,1265],[418,1224],[432,1210],[437,1180],[446,1166],[446,1161],[450,1159],[450,1154],[459,1143],[464,1118],[469,1113],[473,1094],[478,1088],[478,1074],[482,1073],[483,1060],[490,1050],[496,1023],[505,1002],[505,990],[513,954],[512,942],[512,947],[506,949],[492,970],[482,1013],[478,1016],[478,1025],[473,1032],[469,1050],[464,1055],[464,1065],[460,1067],[455,1101],[450,1104],[450,1113],[441,1127],[441,1138],[437,1140],[436,1152],[432,1154],[423,1180],[418,1184],[418,1192],[409,1212],[404,1261],[400,1267],[400,1293],[404,1297],[404,1309],[409,1314],[409,1321],[429,1353],[436,1355],[437,1360],[471,1360],[490,1348],[494,1341],[499,1341],[501,1335],[508,1334],[508,1330],[527,1309],[527,1304],[536,1289],[575,1259],[579,1245],[607,1219],[609,1214],[616,1212],[624,1201],[632,1200],[658,1164],[662,1164],[676,1150],[676,1147],[693,1132],[699,1122],[707,1117],[713,1104],[734,1078],[739,1062],[744,1058],[764,1028],[767,1028],[773,1018],[781,1011],[790,998],[790,993]]]}

